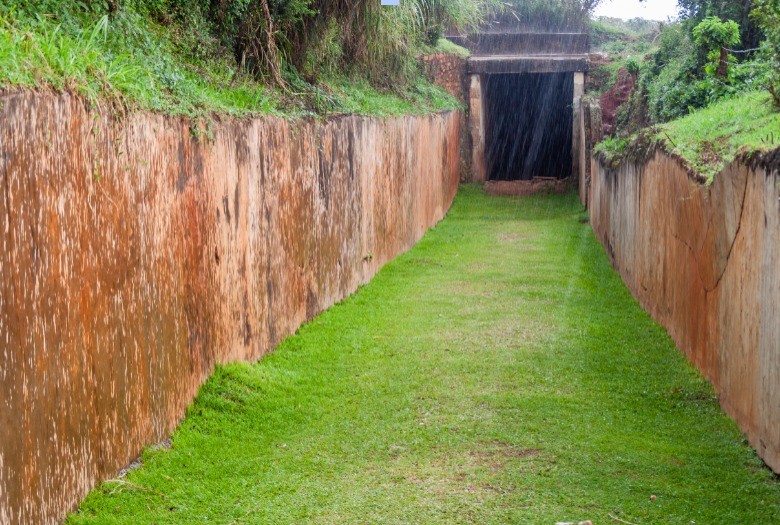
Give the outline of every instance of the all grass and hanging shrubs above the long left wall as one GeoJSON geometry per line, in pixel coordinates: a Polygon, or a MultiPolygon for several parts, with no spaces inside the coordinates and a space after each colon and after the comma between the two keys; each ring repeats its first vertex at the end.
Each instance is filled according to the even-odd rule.
{"type": "Polygon", "coordinates": [[[9,0],[0,85],[193,117],[452,109],[418,56],[438,49],[436,27],[475,27],[491,1],[9,0]]]}

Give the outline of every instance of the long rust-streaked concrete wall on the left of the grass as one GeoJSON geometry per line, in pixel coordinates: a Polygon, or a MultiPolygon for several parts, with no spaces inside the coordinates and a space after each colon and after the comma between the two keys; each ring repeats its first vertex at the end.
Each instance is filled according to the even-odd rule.
{"type": "Polygon", "coordinates": [[[55,523],[442,218],[460,115],[215,124],[0,96],[0,523],[55,523]]]}

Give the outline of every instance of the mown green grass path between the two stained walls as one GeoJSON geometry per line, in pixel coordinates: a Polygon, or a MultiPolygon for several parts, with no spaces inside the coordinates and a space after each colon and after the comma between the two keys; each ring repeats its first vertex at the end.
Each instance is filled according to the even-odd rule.
{"type": "Polygon", "coordinates": [[[780,482],[585,217],[462,188],[371,284],[219,368],[171,449],[68,523],[780,523],[780,482]]]}

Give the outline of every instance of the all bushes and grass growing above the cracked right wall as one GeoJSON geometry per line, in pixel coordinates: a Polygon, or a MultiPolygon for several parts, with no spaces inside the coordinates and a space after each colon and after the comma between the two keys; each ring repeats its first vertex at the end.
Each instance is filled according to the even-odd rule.
{"type": "MultiPolygon", "coordinates": [[[[601,68],[608,77],[605,70],[625,67],[637,88],[597,152],[615,164],[661,147],[712,181],[740,152],[778,146],[780,114],[773,105],[780,106],[780,3],[679,4],[680,20],[662,24],[646,53],[617,59],[611,53],[613,62],[601,68]]],[[[595,26],[602,48],[626,47],[624,28],[601,25],[609,26],[595,26]]]]}

